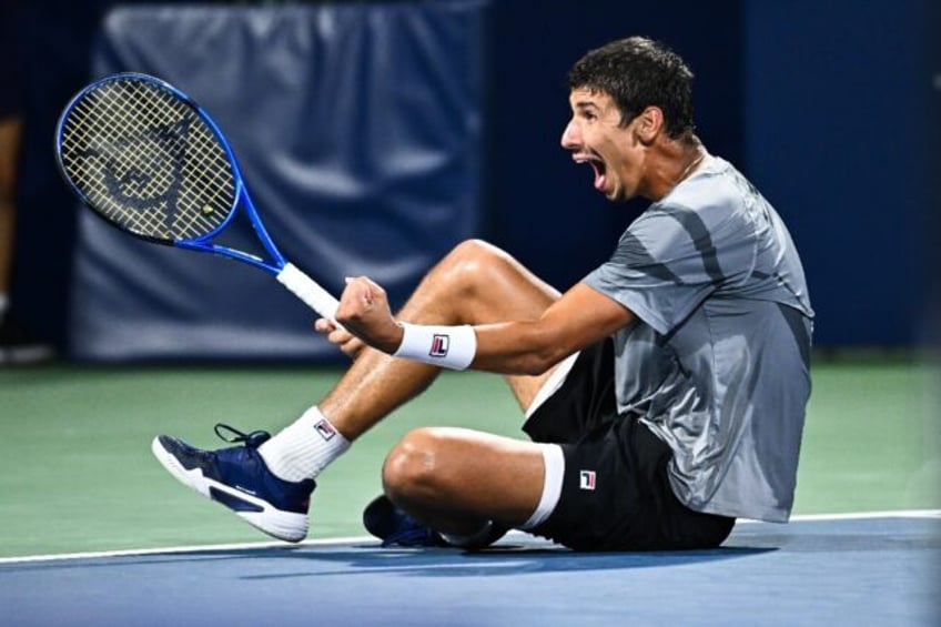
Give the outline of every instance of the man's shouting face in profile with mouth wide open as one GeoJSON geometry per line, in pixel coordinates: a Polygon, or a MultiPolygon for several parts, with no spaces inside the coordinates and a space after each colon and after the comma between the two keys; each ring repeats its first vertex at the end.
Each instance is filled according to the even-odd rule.
{"type": "Polygon", "coordinates": [[[619,127],[620,111],[614,99],[601,91],[574,89],[568,97],[571,119],[561,134],[561,145],[571,151],[576,163],[595,170],[595,189],[608,200],[637,195],[644,158],[634,125],[619,127]]]}

